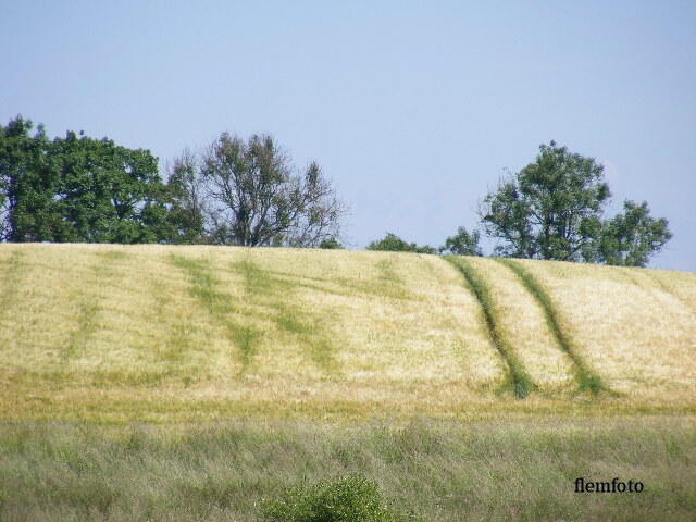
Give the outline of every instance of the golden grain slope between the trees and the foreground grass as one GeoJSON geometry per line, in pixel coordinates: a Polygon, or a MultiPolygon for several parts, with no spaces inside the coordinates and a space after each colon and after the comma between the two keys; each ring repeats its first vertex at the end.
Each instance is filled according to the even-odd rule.
{"type": "Polygon", "coordinates": [[[696,274],[0,245],[0,358],[5,419],[694,411],[696,274]]]}

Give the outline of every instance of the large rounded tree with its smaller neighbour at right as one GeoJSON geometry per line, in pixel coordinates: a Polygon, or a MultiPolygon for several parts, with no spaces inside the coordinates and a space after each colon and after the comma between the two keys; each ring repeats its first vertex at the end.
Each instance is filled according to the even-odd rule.
{"type": "Polygon", "coordinates": [[[550,141],[478,213],[486,234],[501,240],[499,256],[645,265],[671,237],[667,220],[630,201],[625,214],[605,220],[610,197],[600,163],[550,141]]]}

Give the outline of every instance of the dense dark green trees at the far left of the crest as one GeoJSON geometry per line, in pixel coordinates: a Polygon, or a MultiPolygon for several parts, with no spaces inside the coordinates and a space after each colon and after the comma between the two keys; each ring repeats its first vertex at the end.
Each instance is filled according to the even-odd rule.
{"type": "Polygon", "coordinates": [[[17,116],[0,133],[3,239],[167,240],[165,187],[149,151],[73,132],[51,141],[32,128],[17,116]]]}

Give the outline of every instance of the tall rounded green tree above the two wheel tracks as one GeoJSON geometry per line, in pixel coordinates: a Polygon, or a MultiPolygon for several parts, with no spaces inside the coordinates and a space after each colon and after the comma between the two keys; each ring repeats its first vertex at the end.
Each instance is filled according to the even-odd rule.
{"type": "Polygon", "coordinates": [[[486,234],[504,240],[501,256],[587,260],[610,196],[602,165],[551,141],[484,198],[480,216],[486,234]]]}

